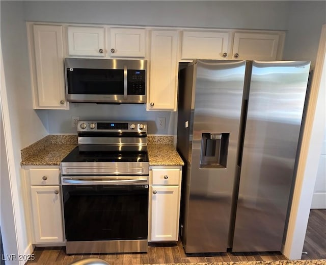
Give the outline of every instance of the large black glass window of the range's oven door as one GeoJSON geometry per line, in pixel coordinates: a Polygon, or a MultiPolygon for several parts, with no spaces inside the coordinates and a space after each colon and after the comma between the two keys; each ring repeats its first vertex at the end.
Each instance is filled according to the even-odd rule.
{"type": "Polygon", "coordinates": [[[67,241],[147,239],[148,185],[63,185],[67,241]]]}

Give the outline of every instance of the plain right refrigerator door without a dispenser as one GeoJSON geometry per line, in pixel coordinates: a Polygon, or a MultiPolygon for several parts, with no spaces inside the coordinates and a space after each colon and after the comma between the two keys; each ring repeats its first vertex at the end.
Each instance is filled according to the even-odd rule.
{"type": "Polygon", "coordinates": [[[309,62],[253,62],[233,251],[280,251],[309,62]]]}

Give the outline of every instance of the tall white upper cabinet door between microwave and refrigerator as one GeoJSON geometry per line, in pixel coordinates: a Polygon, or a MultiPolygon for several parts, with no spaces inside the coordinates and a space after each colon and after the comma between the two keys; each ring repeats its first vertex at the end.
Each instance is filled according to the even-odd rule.
{"type": "Polygon", "coordinates": [[[178,31],[151,32],[148,110],[176,111],[178,31]]]}

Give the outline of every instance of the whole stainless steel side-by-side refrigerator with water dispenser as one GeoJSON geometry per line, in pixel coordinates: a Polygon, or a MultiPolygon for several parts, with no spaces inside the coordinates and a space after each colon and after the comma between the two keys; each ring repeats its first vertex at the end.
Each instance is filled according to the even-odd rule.
{"type": "Polygon", "coordinates": [[[179,71],[186,253],[281,250],[309,67],[195,60],[179,71]]]}

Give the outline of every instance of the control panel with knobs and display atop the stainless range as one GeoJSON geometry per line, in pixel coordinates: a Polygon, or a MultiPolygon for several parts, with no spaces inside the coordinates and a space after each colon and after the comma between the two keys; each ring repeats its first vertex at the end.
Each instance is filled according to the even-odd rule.
{"type": "Polygon", "coordinates": [[[78,132],[147,132],[146,122],[78,121],[78,132]]]}

